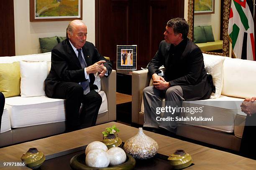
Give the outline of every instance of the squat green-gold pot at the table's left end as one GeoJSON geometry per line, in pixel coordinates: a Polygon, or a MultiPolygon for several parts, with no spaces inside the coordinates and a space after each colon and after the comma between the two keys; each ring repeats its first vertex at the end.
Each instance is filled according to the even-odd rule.
{"type": "Polygon", "coordinates": [[[29,148],[27,153],[23,153],[21,160],[26,162],[28,168],[37,169],[44,163],[45,156],[36,148],[29,148]]]}

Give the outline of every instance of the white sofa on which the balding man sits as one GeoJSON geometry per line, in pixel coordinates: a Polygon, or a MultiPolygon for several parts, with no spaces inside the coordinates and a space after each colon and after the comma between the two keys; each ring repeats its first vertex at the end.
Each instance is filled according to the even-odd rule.
{"type": "MultiPolygon", "coordinates": [[[[22,60],[47,61],[48,71],[51,68],[51,52],[35,54],[35,55],[0,57],[0,63],[13,63],[13,62],[22,61],[22,60]]],[[[98,113],[96,124],[116,120],[116,109],[115,109],[116,72],[115,70],[112,71],[112,73],[108,78],[106,77],[101,78],[101,91],[99,92],[99,94],[102,96],[102,105],[98,113]]],[[[63,126],[64,121],[65,121],[65,108],[64,108],[63,99],[52,99],[46,96],[7,97],[5,98],[5,109],[2,117],[1,136],[0,136],[1,137],[0,141],[2,142],[0,142],[0,146],[22,142],[18,139],[17,135],[21,135],[20,133],[23,133],[21,129],[26,129],[26,130],[33,129],[33,128],[29,128],[31,126],[41,127],[40,125],[47,124],[46,125],[48,126],[47,128],[49,127],[51,128],[48,129],[48,131],[50,131],[49,133],[40,132],[41,136],[38,135],[37,137],[27,138],[27,140],[31,140],[33,138],[38,138],[38,137],[41,138],[45,135],[54,135],[56,133],[62,133],[65,130],[65,127],[63,126]],[[59,123],[56,123],[56,122],[59,122],[59,123]],[[56,126],[53,125],[54,123],[56,123],[56,126]],[[28,127],[28,128],[25,128],[25,127],[28,127]],[[14,129],[14,128],[20,128],[20,129],[14,129]],[[18,133],[15,133],[16,131],[18,133]],[[3,138],[5,138],[5,142],[2,140],[3,138]],[[13,140],[6,142],[6,140],[8,140],[9,138],[12,138],[13,140]],[[17,140],[14,140],[14,139],[17,139],[17,140]]],[[[44,128],[46,126],[44,126],[44,128]]],[[[36,133],[36,132],[33,132],[33,133],[36,133]]],[[[23,133],[23,136],[24,136],[24,133],[23,133]]]]}

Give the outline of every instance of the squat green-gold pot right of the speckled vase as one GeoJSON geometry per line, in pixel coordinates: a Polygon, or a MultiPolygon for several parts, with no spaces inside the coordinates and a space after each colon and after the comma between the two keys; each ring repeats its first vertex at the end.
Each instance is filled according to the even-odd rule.
{"type": "Polygon", "coordinates": [[[192,158],[184,150],[176,150],[175,153],[168,158],[170,164],[174,169],[186,168],[192,164],[192,158]]]}

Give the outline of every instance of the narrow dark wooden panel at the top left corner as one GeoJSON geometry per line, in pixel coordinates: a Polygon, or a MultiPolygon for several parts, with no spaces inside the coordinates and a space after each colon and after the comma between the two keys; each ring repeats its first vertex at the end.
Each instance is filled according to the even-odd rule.
{"type": "Polygon", "coordinates": [[[15,55],[13,0],[0,0],[0,56],[15,55]]]}

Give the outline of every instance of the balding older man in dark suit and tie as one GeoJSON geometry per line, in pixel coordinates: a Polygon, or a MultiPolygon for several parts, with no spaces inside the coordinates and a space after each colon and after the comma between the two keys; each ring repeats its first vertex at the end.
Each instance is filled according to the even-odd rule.
{"type": "Polygon", "coordinates": [[[81,20],[71,21],[67,39],[51,51],[51,70],[45,80],[48,97],[66,99],[68,131],[96,124],[102,98],[95,92],[94,73],[102,77],[112,70],[111,63],[86,38],[87,26],[81,20]]]}

